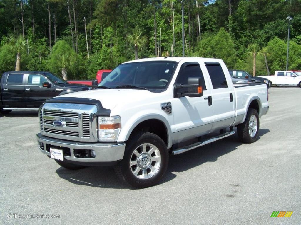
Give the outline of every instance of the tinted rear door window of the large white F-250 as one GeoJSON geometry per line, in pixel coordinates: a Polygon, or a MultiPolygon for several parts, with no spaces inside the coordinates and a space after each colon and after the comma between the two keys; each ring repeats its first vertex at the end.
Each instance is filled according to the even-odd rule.
{"type": "Polygon", "coordinates": [[[228,88],[227,80],[219,63],[216,62],[205,62],[208,70],[213,89],[216,88],[228,88]]]}

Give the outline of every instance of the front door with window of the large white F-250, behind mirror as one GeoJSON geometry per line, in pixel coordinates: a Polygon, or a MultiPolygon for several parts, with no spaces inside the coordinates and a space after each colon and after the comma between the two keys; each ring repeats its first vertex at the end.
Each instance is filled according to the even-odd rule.
{"type": "MultiPolygon", "coordinates": [[[[175,132],[175,143],[209,133],[213,123],[213,107],[208,99],[211,94],[210,88],[207,88],[209,81],[203,76],[198,62],[184,62],[180,67],[175,85],[187,84],[188,77],[201,78],[203,96],[173,99],[174,125],[172,130],[175,132]]],[[[184,88],[182,89],[178,92],[185,91],[184,88]]]]}

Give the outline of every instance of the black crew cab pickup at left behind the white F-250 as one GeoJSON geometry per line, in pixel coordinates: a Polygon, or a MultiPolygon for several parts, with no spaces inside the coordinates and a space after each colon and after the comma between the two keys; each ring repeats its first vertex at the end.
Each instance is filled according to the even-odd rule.
{"type": "Polygon", "coordinates": [[[88,89],[85,85],[68,84],[50,72],[5,72],[0,82],[0,113],[7,114],[11,110],[38,110],[48,98],[88,89]]]}

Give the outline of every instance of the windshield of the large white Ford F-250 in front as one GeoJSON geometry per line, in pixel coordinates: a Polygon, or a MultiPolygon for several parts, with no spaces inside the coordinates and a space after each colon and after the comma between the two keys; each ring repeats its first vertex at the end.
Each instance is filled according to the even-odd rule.
{"type": "Polygon", "coordinates": [[[164,89],[171,79],[175,61],[145,61],[120,64],[98,87],[164,89]]]}

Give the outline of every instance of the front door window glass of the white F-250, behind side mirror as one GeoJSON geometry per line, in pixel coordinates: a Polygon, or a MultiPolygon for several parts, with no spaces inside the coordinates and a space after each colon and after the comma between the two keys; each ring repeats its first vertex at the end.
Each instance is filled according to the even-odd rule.
{"type": "MultiPolygon", "coordinates": [[[[202,89],[206,90],[204,76],[199,64],[184,63],[177,79],[175,80],[175,84],[187,84],[188,77],[200,77],[202,82],[202,89]]],[[[180,91],[184,91],[184,89],[185,88],[181,88],[180,91]]]]}

